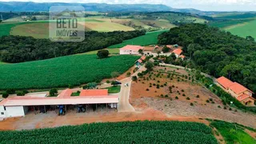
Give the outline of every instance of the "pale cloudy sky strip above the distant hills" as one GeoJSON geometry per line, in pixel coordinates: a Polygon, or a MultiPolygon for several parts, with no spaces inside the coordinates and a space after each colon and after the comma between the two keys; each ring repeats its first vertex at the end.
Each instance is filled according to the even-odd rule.
{"type": "MultiPolygon", "coordinates": [[[[78,2],[78,0],[0,0],[0,2],[78,2]]],[[[79,3],[164,4],[174,8],[194,8],[217,11],[256,11],[256,0],[79,0],[79,3]]]]}

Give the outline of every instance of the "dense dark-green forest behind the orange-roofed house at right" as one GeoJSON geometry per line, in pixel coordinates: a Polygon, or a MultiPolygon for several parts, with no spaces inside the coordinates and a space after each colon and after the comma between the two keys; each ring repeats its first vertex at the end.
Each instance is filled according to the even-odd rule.
{"type": "Polygon", "coordinates": [[[158,36],[158,43],[183,46],[195,68],[226,76],[256,91],[256,42],[202,24],[186,24],[158,36]]]}

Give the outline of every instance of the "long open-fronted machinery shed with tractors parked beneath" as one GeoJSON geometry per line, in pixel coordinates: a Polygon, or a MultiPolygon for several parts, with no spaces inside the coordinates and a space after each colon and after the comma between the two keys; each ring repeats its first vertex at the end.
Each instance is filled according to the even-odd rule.
{"type": "Polygon", "coordinates": [[[118,96],[109,95],[108,90],[82,90],[79,96],[71,96],[70,89],[62,90],[57,97],[16,96],[0,102],[0,118],[25,116],[30,111],[46,113],[47,110],[58,110],[65,114],[68,107],[86,111],[87,108],[97,109],[98,105],[117,108],[118,96]]]}

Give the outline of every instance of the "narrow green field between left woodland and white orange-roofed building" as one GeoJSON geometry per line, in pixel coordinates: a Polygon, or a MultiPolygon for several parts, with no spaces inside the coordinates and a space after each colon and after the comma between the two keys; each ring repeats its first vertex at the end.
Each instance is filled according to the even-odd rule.
{"type": "Polygon", "coordinates": [[[154,32],[148,32],[145,35],[142,35],[137,38],[132,38],[129,40],[126,40],[122,43],[119,43],[117,45],[109,46],[108,48],[121,48],[126,45],[140,45],[140,46],[147,46],[147,45],[153,45],[158,42],[158,34],[162,34],[167,30],[159,30],[154,32]]]}

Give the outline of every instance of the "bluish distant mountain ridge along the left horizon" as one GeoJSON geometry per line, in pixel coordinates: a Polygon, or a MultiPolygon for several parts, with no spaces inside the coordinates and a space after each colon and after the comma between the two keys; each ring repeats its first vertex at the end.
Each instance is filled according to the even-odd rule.
{"type": "Polygon", "coordinates": [[[1,12],[48,11],[50,6],[83,6],[86,11],[168,11],[165,5],[150,4],[106,4],[106,3],[65,3],[65,2],[0,2],[1,12]]]}

